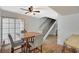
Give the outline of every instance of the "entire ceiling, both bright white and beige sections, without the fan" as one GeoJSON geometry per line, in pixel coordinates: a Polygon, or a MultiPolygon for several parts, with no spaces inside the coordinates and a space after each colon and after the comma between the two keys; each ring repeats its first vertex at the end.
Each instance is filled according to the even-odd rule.
{"type": "MultiPolygon", "coordinates": [[[[3,10],[25,15],[25,11],[20,8],[26,8],[27,6],[1,6],[3,10]]],[[[56,19],[58,14],[60,15],[71,15],[79,13],[79,6],[34,6],[36,10],[40,10],[40,13],[36,15],[27,15],[32,17],[50,17],[56,19]]]]}

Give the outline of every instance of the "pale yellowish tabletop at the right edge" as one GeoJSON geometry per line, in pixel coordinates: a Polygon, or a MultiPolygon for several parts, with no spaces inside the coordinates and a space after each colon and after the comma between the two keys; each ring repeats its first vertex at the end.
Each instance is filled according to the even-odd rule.
{"type": "Polygon", "coordinates": [[[65,44],[79,49],[79,35],[72,35],[65,41],[65,44]]]}

